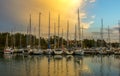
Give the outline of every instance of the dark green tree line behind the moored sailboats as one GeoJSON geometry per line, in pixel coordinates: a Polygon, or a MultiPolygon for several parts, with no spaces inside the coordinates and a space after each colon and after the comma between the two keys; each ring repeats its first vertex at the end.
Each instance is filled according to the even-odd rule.
{"type": "MultiPolygon", "coordinates": [[[[26,48],[27,45],[31,46],[38,46],[38,38],[34,35],[28,35],[28,34],[22,34],[22,33],[15,33],[10,34],[8,32],[0,33],[0,49],[3,50],[6,45],[6,37],[8,35],[8,46],[9,47],[17,47],[17,48],[26,48]]],[[[67,47],[67,41],[66,39],[58,36],[51,36],[50,37],[50,45],[51,48],[54,48],[54,44],[56,41],[56,47],[67,47]],[[58,39],[59,39],[59,45],[58,45],[58,39]],[[60,45],[63,44],[63,45],[60,45]]],[[[69,47],[75,47],[75,46],[81,46],[80,40],[69,40],[69,47]],[[77,42],[77,45],[75,43],[77,42]]],[[[40,44],[42,49],[47,49],[48,47],[48,38],[40,37],[40,44]]],[[[84,39],[82,40],[82,46],[84,48],[91,48],[91,47],[119,47],[119,43],[107,43],[104,40],[94,40],[94,39],[84,39]]]]}

